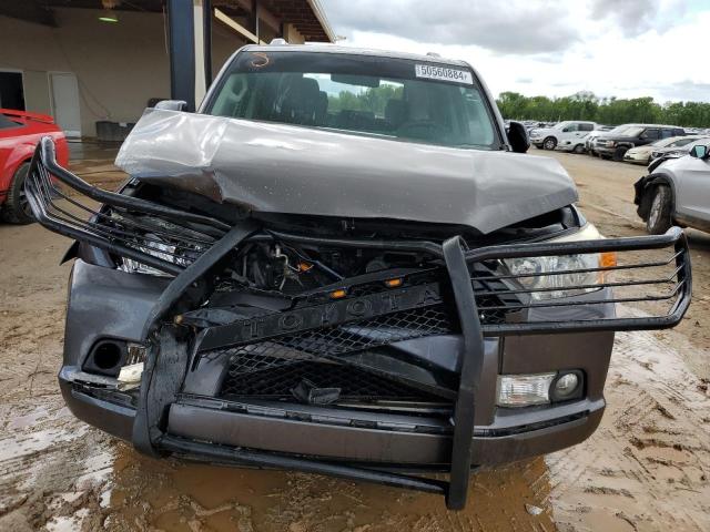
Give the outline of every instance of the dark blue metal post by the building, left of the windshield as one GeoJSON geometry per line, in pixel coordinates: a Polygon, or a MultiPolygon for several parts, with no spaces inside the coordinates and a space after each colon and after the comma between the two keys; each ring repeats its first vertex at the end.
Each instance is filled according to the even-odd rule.
{"type": "Polygon", "coordinates": [[[192,0],[168,0],[170,98],[195,109],[195,37],[192,0]]]}

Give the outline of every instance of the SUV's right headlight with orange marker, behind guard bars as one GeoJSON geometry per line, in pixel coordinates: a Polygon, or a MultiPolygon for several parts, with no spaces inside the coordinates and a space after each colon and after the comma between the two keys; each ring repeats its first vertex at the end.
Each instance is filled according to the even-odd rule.
{"type": "MultiPolygon", "coordinates": [[[[550,242],[596,241],[604,238],[597,228],[587,224],[574,235],[555,238],[550,242]]],[[[579,255],[557,255],[549,257],[521,257],[504,260],[511,275],[519,276],[517,282],[530,291],[532,299],[554,299],[598,290],[602,282],[600,272],[588,269],[609,267],[616,264],[616,255],[608,253],[587,253],[579,255]],[[556,274],[556,272],[565,272],[556,274]],[[584,288],[581,288],[584,287],[584,288]],[[532,291],[539,290],[539,291],[532,291]]]]}

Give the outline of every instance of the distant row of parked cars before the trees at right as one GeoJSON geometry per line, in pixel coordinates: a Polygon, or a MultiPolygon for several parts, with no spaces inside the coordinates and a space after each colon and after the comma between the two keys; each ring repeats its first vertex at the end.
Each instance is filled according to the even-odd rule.
{"type": "Polygon", "coordinates": [[[566,121],[528,132],[530,143],[541,150],[588,153],[601,158],[635,164],[686,155],[707,144],[710,130],[686,131],[665,124],[622,124],[616,127],[587,121],[566,121]]]}

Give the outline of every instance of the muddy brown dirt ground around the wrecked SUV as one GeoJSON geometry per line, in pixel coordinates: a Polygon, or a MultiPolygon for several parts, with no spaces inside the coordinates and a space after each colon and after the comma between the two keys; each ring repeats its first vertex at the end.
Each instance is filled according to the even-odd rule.
{"type": "MultiPolygon", "coordinates": [[[[531,153],[541,154],[532,149],[531,153]]],[[[74,170],[111,186],[111,151],[74,170]]],[[[608,236],[640,235],[643,167],[554,154],[608,236]]],[[[710,236],[689,231],[694,297],[673,331],[620,334],[599,430],[575,448],[477,474],[463,512],[433,495],[322,477],[155,461],[63,407],[69,242],[0,225],[0,530],[709,531],[710,236]]]]}

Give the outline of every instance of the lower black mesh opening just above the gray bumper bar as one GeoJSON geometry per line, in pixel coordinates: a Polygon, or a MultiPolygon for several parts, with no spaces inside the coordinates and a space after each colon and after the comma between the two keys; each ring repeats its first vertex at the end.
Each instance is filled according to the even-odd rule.
{"type": "Polygon", "coordinates": [[[367,371],[334,362],[292,360],[288,366],[274,367],[266,358],[258,369],[244,372],[244,361],[235,360],[230,366],[222,387],[222,397],[294,399],[294,390],[308,381],[317,388],[338,388],[339,400],[438,400],[406,385],[373,375],[367,371]]]}

